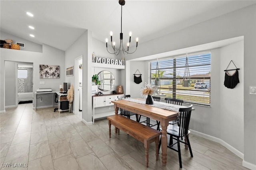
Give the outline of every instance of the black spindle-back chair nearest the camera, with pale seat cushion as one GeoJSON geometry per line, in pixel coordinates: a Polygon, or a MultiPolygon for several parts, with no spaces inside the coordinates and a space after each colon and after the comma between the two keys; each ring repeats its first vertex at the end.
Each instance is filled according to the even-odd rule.
{"type": "MultiPolygon", "coordinates": [[[[169,143],[169,145],[167,145],[167,147],[176,151],[176,152],[178,152],[180,168],[182,168],[181,153],[180,153],[180,142],[188,145],[190,156],[193,157],[192,149],[191,149],[190,142],[189,142],[189,139],[188,139],[188,134],[190,133],[190,130],[188,130],[188,127],[189,127],[189,122],[190,122],[191,111],[192,111],[192,105],[190,105],[189,107],[180,108],[179,109],[179,112],[180,112],[180,126],[178,126],[178,125],[168,125],[168,127],[167,127],[167,134],[170,135],[170,137],[172,136],[174,140],[177,140],[177,142],[175,142],[174,144],[169,143]],[[187,140],[187,143],[181,141],[180,140],[181,137],[185,137],[186,140],[187,140]],[[178,150],[173,148],[173,146],[175,144],[178,145],[178,150]]],[[[158,145],[158,150],[160,149],[160,147],[161,147],[161,139],[160,139],[160,142],[159,142],[159,145],[158,145]]]]}

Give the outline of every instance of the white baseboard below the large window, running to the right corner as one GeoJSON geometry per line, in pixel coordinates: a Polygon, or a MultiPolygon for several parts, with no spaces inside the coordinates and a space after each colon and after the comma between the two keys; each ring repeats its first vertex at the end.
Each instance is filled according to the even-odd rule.
{"type": "Polygon", "coordinates": [[[228,148],[228,150],[230,150],[231,152],[233,152],[234,154],[236,154],[238,157],[240,157],[241,159],[244,159],[244,154],[242,152],[240,152],[239,150],[237,150],[236,148],[234,148],[233,146],[231,146],[230,144],[228,144],[227,142],[225,142],[224,140],[220,139],[220,138],[216,138],[214,136],[210,136],[208,134],[204,134],[201,132],[198,132],[196,130],[192,130],[190,129],[190,132],[192,134],[196,134],[197,136],[201,136],[203,138],[212,140],[214,142],[218,142],[220,144],[222,144],[223,146],[225,146],[226,148],[228,148]]]}

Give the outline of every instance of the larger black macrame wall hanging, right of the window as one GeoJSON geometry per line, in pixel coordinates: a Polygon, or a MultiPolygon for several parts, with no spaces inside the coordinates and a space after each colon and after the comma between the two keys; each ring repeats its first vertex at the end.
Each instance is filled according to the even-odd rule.
{"type": "MultiPolygon", "coordinates": [[[[234,62],[231,60],[228,64],[228,66],[230,65],[230,63],[234,62]]],[[[234,66],[236,67],[236,65],[234,64],[234,66]]],[[[225,80],[224,80],[224,86],[229,88],[229,89],[234,89],[236,87],[236,85],[239,83],[239,78],[238,78],[238,68],[236,67],[236,69],[229,69],[228,67],[224,70],[225,71],[225,80]],[[236,70],[233,74],[228,73],[228,71],[232,71],[232,70],[236,70]]]]}

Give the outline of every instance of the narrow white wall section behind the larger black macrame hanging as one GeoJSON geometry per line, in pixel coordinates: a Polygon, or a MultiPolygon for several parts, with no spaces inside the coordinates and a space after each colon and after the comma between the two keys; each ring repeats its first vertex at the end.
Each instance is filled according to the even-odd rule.
{"type": "MultiPolygon", "coordinates": [[[[228,69],[236,67],[230,63],[228,69]]],[[[244,153],[244,41],[220,48],[220,68],[220,138],[244,153]],[[234,89],[223,85],[223,70],[231,60],[240,68],[240,83],[234,89]]]]}

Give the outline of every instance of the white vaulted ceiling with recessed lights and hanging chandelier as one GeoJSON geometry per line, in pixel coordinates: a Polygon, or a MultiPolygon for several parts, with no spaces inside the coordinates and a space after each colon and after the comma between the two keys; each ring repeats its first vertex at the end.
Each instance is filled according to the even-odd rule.
{"type": "MultiPolygon", "coordinates": [[[[126,0],[122,17],[124,42],[128,41],[130,31],[134,45],[136,37],[139,43],[146,42],[255,3],[254,0],[126,0]]],[[[86,30],[102,42],[110,38],[112,31],[114,41],[118,42],[121,29],[118,0],[1,0],[0,14],[2,32],[64,51],[86,30]]]]}

